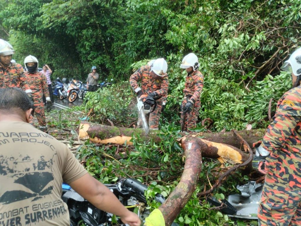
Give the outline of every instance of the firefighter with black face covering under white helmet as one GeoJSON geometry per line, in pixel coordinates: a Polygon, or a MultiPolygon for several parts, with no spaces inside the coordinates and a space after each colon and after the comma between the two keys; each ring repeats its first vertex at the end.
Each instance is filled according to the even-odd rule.
{"type": "MultiPolygon", "coordinates": [[[[44,103],[42,99],[44,94],[46,97],[46,109],[47,111],[50,111],[51,100],[49,97],[49,90],[46,77],[45,75],[37,71],[39,67],[39,61],[36,59],[36,57],[31,55],[27,56],[24,60],[24,64],[27,70],[26,76],[28,79],[28,83],[33,94],[33,103],[35,107],[35,114],[37,116],[40,126],[39,129],[45,133],[48,133],[44,111],[44,103]]],[[[33,121],[30,121],[29,123],[33,124],[33,121]]]]}

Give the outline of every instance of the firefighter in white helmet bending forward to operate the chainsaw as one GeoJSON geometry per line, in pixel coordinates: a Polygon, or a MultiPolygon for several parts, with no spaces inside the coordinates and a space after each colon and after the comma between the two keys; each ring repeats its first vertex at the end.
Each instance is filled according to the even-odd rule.
{"type": "MultiPolygon", "coordinates": [[[[160,114],[163,101],[165,103],[168,92],[167,63],[163,58],[154,60],[151,65],[145,65],[135,71],[130,77],[130,85],[138,97],[145,94],[156,100],[157,107],[147,114],[150,130],[159,129],[160,114]],[[141,80],[141,86],[138,82],[141,80]]],[[[142,127],[141,118],[138,118],[138,128],[142,127]]]]}

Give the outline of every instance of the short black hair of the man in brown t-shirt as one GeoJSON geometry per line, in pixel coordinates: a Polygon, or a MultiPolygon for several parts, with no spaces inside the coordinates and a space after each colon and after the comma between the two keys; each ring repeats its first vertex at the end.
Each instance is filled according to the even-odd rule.
{"type": "Polygon", "coordinates": [[[34,109],[33,102],[27,94],[20,88],[0,88],[0,112],[6,113],[21,113],[20,110],[27,111],[30,108],[34,109]]]}

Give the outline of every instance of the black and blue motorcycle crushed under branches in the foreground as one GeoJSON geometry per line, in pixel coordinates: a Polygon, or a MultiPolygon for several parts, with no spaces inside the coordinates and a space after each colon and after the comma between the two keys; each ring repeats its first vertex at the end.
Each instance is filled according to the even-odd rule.
{"type": "MultiPolygon", "coordinates": [[[[147,190],[147,187],[145,185],[135,179],[128,178],[121,180],[117,184],[105,184],[105,186],[113,192],[124,206],[136,212],[141,221],[145,221],[145,218],[150,214],[150,211],[146,208],[147,201],[144,191],[147,190]]],[[[83,221],[88,226],[116,225],[116,222],[113,222],[113,214],[97,209],[71,189],[69,185],[63,184],[62,188],[62,199],[67,203],[72,226],[78,225],[79,221],[83,221]]],[[[157,194],[155,200],[159,203],[165,201],[161,194],[157,194]]],[[[117,220],[117,224],[125,225],[120,220],[117,220]]],[[[177,225],[172,223],[172,226],[177,225]]]]}

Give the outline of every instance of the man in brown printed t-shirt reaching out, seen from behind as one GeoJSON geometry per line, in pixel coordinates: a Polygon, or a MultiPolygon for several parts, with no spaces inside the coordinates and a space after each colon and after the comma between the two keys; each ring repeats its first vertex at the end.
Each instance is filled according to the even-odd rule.
{"type": "Polygon", "coordinates": [[[0,89],[0,224],[69,226],[62,183],[131,226],[139,217],[94,179],[66,145],[28,123],[33,103],[18,88],[0,89]]]}

